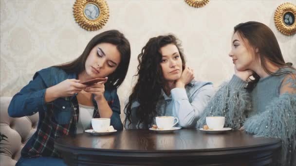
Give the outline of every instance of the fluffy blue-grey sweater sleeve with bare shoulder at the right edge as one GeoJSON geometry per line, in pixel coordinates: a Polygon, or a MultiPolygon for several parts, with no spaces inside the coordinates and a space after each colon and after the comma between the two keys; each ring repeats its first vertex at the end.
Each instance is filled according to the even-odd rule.
{"type": "Polygon", "coordinates": [[[288,74],[280,96],[270,101],[263,112],[245,120],[244,128],[254,136],[277,137],[282,141],[278,165],[296,166],[296,74],[288,74]]]}

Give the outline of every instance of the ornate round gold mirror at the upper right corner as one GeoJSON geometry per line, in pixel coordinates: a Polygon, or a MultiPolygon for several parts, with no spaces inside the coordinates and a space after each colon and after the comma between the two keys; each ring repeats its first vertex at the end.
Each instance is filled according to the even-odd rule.
{"type": "Polygon", "coordinates": [[[296,33],[296,5],[293,3],[283,3],[277,7],[274,20],[277,30],[285,35],[296,33]]]}

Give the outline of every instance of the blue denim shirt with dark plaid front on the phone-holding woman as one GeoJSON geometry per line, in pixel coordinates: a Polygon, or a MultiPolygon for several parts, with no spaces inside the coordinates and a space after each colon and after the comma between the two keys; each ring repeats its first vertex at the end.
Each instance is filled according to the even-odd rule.
{"type": "MultiPolygon", "coordinates": [[[[53,156],[60,157],[54,148],[54,140],[62,135],[75,135],[79,117],[79,106],[76,95],[46,103],[45,92],[66,79],[77,79],[76,73],[67,73],[57,67],[49,67],[38,71],[33,80],[24,86],[11,100],[8,114],[12,117],[31,116],[39,112],[36,133],[22,149],[23,157],[53,156]]],[[[105,90],[112,116],[111,125],[116,130],[122,130],[120,119],[120,103],[117,89],[105,90]]],[[[100,117],[97,103],[92,95],[94,105],[93,117],[100,117]]]]}

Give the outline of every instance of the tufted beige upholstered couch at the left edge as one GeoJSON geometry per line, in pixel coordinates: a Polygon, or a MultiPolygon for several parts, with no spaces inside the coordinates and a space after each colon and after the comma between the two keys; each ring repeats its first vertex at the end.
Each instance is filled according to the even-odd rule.
{"type": "Polygon", "coordinates": [[[20,157],[20,150],[36,131],[38,113],[33,116],[13,118],[7,109],[12,97],[0,97],[0,133],[6,135],[7,141],[0,143],[0,165],[15,166],[20,157]],[[3,145],[5,144],[5,145],[3,145]]]}

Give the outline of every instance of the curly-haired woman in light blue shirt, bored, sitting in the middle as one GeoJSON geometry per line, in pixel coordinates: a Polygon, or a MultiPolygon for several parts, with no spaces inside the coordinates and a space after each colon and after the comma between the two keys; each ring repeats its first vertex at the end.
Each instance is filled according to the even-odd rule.
{"type": "Polygon", "coordinates": [[[194,70],[185,65],[179,40],[171,34],[150,38],[138,61],[138,81],[125,108],[125,127],[148,129],[156,116],[175,116],[179,126],[195,127],[213,86],[193,80],[194,70]]]}

